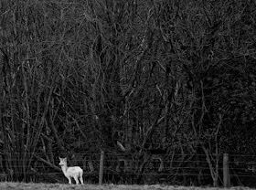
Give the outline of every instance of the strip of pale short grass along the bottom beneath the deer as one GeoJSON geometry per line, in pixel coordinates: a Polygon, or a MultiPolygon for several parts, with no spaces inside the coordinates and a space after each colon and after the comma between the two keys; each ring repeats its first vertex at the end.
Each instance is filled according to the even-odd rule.
{"type": "MultiPolygon", "coordinates": [[[[213,187],[185,187],[185,186],[165,186],[165,185],[64,185],[64,184],[26,184],[26,183],[0,183],[3,190],[217,190],[221,188],[213,187]]],[[[224,188],[222,188],[224,189],[224,188]]],[[[248,187],[231,187],[230,190],[250,190],[248,187]]]]}

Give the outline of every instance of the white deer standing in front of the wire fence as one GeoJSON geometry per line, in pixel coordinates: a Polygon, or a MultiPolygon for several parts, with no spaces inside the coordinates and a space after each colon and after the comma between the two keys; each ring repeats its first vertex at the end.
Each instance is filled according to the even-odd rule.
{"type": "Polygon", "coordinates": [[[79,183],[83,185],[83,179],[82,179],[83,171],[80,168],[80,166],[68,167],[67,158],[59,158],[59,165],[61,166],[63,174],[69,179],[69,184],[72,184],[71,178],[74,178],[77,185],[79,183]],[[79,182],[79,179],[80,179],[80,182],[79,182]]]}

